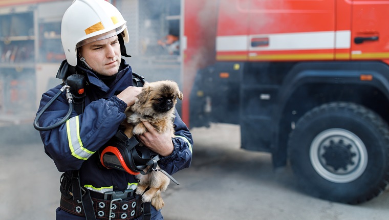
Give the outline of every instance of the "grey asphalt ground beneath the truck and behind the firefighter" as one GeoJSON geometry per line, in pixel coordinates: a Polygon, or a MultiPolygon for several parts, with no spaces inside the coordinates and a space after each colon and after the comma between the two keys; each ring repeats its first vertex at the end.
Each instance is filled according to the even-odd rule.
{"type": "MultiPolygon", "coordinates": [[[[0,128],[0,219],[55,219],[59,177],[37,131],[0,128]]],[[[174,174],[162,194],[166,220],[388,219],[389,192],[360,204],[323,201],[302,193],[289,167],[274,170],[268,153],[240,149],[239,126],[191,129],[190,168],[174,174]]]]}

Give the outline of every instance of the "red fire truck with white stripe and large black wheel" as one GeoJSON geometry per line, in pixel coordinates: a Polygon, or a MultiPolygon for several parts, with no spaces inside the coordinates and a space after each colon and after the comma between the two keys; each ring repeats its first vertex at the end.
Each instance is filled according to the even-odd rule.
{"type": "Polygon", "coordinates": [[[182,118],[239,124],[309,194],[358,204],[389,182],[389,1],[185,1],[182,118]],[[190,94],[190,97],[188,97],[190,94]]]}

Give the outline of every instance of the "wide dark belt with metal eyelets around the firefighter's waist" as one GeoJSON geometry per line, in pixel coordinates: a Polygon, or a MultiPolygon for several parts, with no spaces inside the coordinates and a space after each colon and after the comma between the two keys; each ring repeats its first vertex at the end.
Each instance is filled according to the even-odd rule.
{"type": "MultiPolygon", "coordinates": [[[[103,220],[133,219],[140,216],[143,211],[141,210],[142,198],[140,195],[134,195],[124,199],[118,198],[113,200],[98,199],[92,196],[92,201],[96,217],[103,220]]],[[[67,211],[74,215],[83,217],[85,216],[81,201],[67,199],[62,195],[60,207],[64,211],[67,211]]]]}

